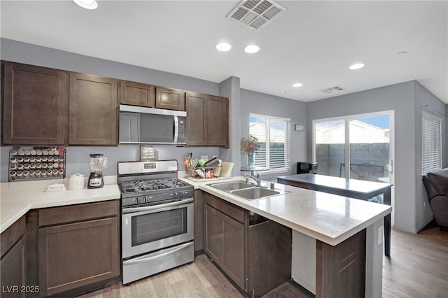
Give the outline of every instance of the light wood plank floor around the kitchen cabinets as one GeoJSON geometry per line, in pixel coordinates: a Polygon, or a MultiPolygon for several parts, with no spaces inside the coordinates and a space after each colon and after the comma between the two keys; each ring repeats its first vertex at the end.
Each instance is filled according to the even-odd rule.
{"type": "MultiPolygon", "coordinates": [[[[442,298],[448,293],[448,232],[433,222],[419,234],[392,229],[391,257],[383,259],[383,297],[442,298]]],[[[113,285],[80,298],[244,297],[205,255],[193,264],[145,278],[130,286],[113,285]]],[[[293,282],[265,298],[313,297],[293,282]]],[[[376,298],[376,297],[374,297],[376,298]]]]}

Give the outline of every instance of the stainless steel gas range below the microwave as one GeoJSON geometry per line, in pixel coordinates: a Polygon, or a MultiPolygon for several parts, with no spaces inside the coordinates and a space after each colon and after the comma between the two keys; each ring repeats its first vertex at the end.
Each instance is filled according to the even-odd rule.
{"type": "Polygon", "coordinates": [[[177,160],[118,162],[123,285],[195,260],[194,187],[177,160]]]}

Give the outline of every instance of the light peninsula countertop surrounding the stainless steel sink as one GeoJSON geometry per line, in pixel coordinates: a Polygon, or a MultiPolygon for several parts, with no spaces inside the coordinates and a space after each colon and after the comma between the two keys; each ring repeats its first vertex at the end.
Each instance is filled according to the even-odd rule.
{"type": "MultiPolygon", "coordinates": [[[[225,201],[258,213],[265,218],[279,222],[297,232],[335,246],[350,236],[372,225],[391,213],[392,207],[341,197],[325,192],[316,192],[304,188],[275,183],[275,188],[290,191],[265,199],[243,199],[236,195],[217,190],[211,183],[225,183],[232,180],[244,180],[243,177],[223,181],[204,181],[188,183],[196,189],[204,190],[225,201]]],[[[269,182],[262,181],[269,186],[269,182]]]]}

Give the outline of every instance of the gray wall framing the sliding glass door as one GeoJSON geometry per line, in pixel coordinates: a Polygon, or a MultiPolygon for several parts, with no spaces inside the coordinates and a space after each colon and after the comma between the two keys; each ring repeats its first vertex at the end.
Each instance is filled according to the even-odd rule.
{"type": "MultiPolygon", "coordinates": [[[[421,167],[416,163],[421,159],[421,110],[416,97],[422,102],[437,102],[430,92],[415,81],[389,85],[386,87],[346,94],[307,104],[308,143],[311,144],[311,121],[344,115],[394,111],[395,118],[395,227],[408,232],[417,232],[430,219],[428,204],[423,207],[421,192],[421,167]]],[[[437,108],[437,106],[435,108],[437,108]]],[[[446,133],[445,133],[446,135],[446,133]]],[[[309,156],[312,147],[309,146],[309,156]]],[[[444,156],[447,156],[446,140],[444,156]]],[[[446,159],[445,159],[446,160],[446,159]]],[[[445,162],[446,163],[446,162],[445,162]]]]}

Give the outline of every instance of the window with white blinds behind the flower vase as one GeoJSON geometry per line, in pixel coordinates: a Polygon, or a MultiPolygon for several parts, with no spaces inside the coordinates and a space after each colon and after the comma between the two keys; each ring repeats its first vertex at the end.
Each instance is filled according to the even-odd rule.
{"type": "Polygon", "coordinates": [[[272,171],[290,169],[290,119],[251,114],[249,134],[258,139],[255,166],[272,171]]]}

